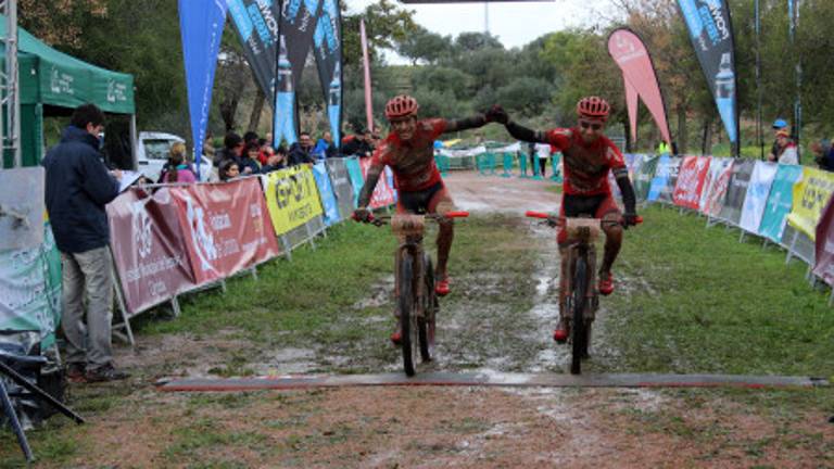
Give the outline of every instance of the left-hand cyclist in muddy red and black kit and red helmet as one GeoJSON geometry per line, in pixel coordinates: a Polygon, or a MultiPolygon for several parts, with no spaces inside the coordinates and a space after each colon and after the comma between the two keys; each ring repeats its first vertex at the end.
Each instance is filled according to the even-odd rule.
{"type": "MultiPolygon", "coordinates": [[[[434,140],[442,134],[479,128],[489,122],[483,114],[463,119],[427,118],[417,119],[417,100],[400,94],[386,104],[386,117],[391,123],[391,132],[374,152],[365,186],[359,193],[358,208],[354,219],[368,221],[368,203],[386,166],[394,173],[397,192],[397,213],[439,213],[454,210],[452,197],[443,185],[440,170],[434,163],[434,140]]],[[[442,218],[438,231],[438,266],[435,268],[435,291],[438,295],[448,294],[447,263],[452,250],[454,226],[452,218],[442,218]]],[[[391,335],[394,343],[400,332],[391,335]]]]}

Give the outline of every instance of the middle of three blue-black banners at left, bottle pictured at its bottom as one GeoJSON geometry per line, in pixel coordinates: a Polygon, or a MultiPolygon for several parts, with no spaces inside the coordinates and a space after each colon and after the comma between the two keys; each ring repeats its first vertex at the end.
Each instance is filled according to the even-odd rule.
{"type": "Polygon", "coordinates": [[[292,144],[299,138],[295,84],[301,83],[301,73],[313,47],[320,8],[320,0],[286,0],[281,8],[273,119],[276,144],[281,140],[292,144]]]}

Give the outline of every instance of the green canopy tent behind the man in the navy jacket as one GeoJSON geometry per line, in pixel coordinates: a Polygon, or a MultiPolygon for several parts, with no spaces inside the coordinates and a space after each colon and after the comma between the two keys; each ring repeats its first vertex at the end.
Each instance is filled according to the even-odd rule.
{"type": "MultiPolygon", "coordinates": [[[[5,17],[2,15],[0,35],[5,35],[5,17]]],[[[2,43],[0,53],[4,56],[2,43]]],[[[35,166],[43,157],[45,116],[67,115],[88,102],[105,113],[136,114],[132,75],[111,72],[60,52],[23,28],[17,29],[17,62],[24,166],[35,166]]],[[[4,66],[1,56],[0,64],[4,66]]],[[[131,118],[130,122],[132,149],[136,148],[136,121],[131,118]]],[[[3,167],[12,167],[13,155],[7,152],[3,156],[3,167]]]]}

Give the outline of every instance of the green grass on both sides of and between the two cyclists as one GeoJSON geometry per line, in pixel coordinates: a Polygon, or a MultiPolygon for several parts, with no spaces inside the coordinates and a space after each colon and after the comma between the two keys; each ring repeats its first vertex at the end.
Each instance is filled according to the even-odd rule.
{"type": "MultiPolygon", "coordinates": [[[[794,262],[786,267],[782,251],[762,250],[755,241],[738,243],[737,231],[706,229],[704,219],[694,215],[656,206],[642,215],[645,224],[627,233],[615,268],[618,291],[603,300],[604,327],[594,338],[612,352],[604,359],[592,358],[589,371],[834,375],[834,309],[825,304],[826,292],[813,291],[804,280],[805,265],[794,262]]],[[[531,312],[535,276],[553,267],[552,259],[543,258],[555,242],[549,231],[543,238],[529,226],[504,216],[457,224],[451,271],[455,292],[444,300],[440,319],[441,369],[526,371],[538,363],[540,352],[554,346],[547,327],[531,312]]],[[[76,427],[53,417],[29,432],[39,466],[110,467],[99,461],[110,460],[110,452],[134,439],[152,446],[147,452],[157,467],[245,467],[224,452],[249,455],[255,464],[261,453],[268,459],[299,455],[314,443],[354,441],[341,428],[315,433],[304,420],[328,405],[327,392],[167,395],[152,386],[159,376],[170,372],[176,365],[170,362],[214,355],[218,365],[211,373],[241,376],[254,372],[253,362],[269,359],[270,351],[285,347],[313,350],[312,371],[399,369],[397,351],[388,343],[393,325],[390,230],[344,224],[317,244],[317,250],[295,251],[292,262],[262,266],[258,281],[243,276],[228,282],[226,294],[214,290],[187,296],[177,318],[165,313],[141,317],[136,325],[140,344],[176,338],[189,342],[181,353],[175,350],[165,358],[168,363],[142,358],[148,362],[130,368],[128,382],[73,386],[68,404],[90,423],[76,427]],[[225,347],[223,341],[233,346],[225,347]],[[235,420],[264,409],[278,414],[235,420]],[[227,421],[218,423],[218,415],[227,421]],[[286,438],[276,436],[283,433],[286,438]],[[80,464],[87,454],[93,455],[92,462],[80,464]]],[[[546,369],[560,371],[556,366],[546,369]]],[[[576,394],[581,398],[582,390],[576,394]]],[[[749,440],[743,452],[755,454],[774,441],[831,446],[814,432],[793,442],[796,432],[791,430],[808,415],[819,418],[834,409],[830,389],[661,394],[680,408],[621,410],[631,426],[624,431],[698,435],[699,442],[720,448],[721,432],[732,431],[722,422],[754,409],[768,416],[776,434],[749,440]],[[715,421],[687,417],[699,408],[713,413],[715,421]]],[[[0,432],[0,467],[23,466],[13,436],[0,432]]]]}

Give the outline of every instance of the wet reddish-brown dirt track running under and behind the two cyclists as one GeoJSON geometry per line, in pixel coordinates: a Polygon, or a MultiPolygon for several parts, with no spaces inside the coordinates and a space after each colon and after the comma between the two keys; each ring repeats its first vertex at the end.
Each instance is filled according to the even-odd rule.
{"type": "MultiPolygon", "coordinates": [[[[491,308],[513,288],[502,283],[502,272],[458,278],[456,297],[439,321],[445,335],[439,338],[431,370],[564,372],[567,347],[549,340],[556,317],[551,301],[558,265],[555,234],[520,218],[527,210],[556,211],[559,195],[547,189],[555,183],[473,173],[454,173],[445,180],[459,208],[519,215],[507,223],[529,225],[528,236],[511,248],[533,250],[536,267],[527,279],[534,291],[528,299],[532,307],[514,312],[513,324],[506,310],[491,308]],[[502,333],[486,335],[494,330],[502,333]]],[[[382,279],[375,287],[380,303],[391,282],[382,279]]],[[[616,356],[605,346],[605,314],[597,319],[592,345],[592,359],[603,364],[597,366],[616,356]]],[[[389,327],[390,317],[380,320],[389,327]]],[[[180,378],[208,376],[219,351],[245,345],[223,331],[213,338],[138,341],[139,353],[119,348],[117,363],[135,375],[154,369],[180,378]]],[[[337,363],[350,372],[399,370],[388,344],[374,352],[381,347],[378,342],[337,357],[323,357],[312,347],[287,348],[262,357],[266,365],[252,364],[252,369],[305,373],[337,363]]],[[[129,390],[100,386],[101,394],[127,392],[125,404],[102,410],[85,426],[85,440],[94,444],[84,455],[46,466],[834,467],[834,424],[826,422],[824,410],[798,415],[756,405],[760,396],[776,392],[769,390],[386,386],[163,393],[153,386],[157,377],[135,379],[129,390]]]]}

